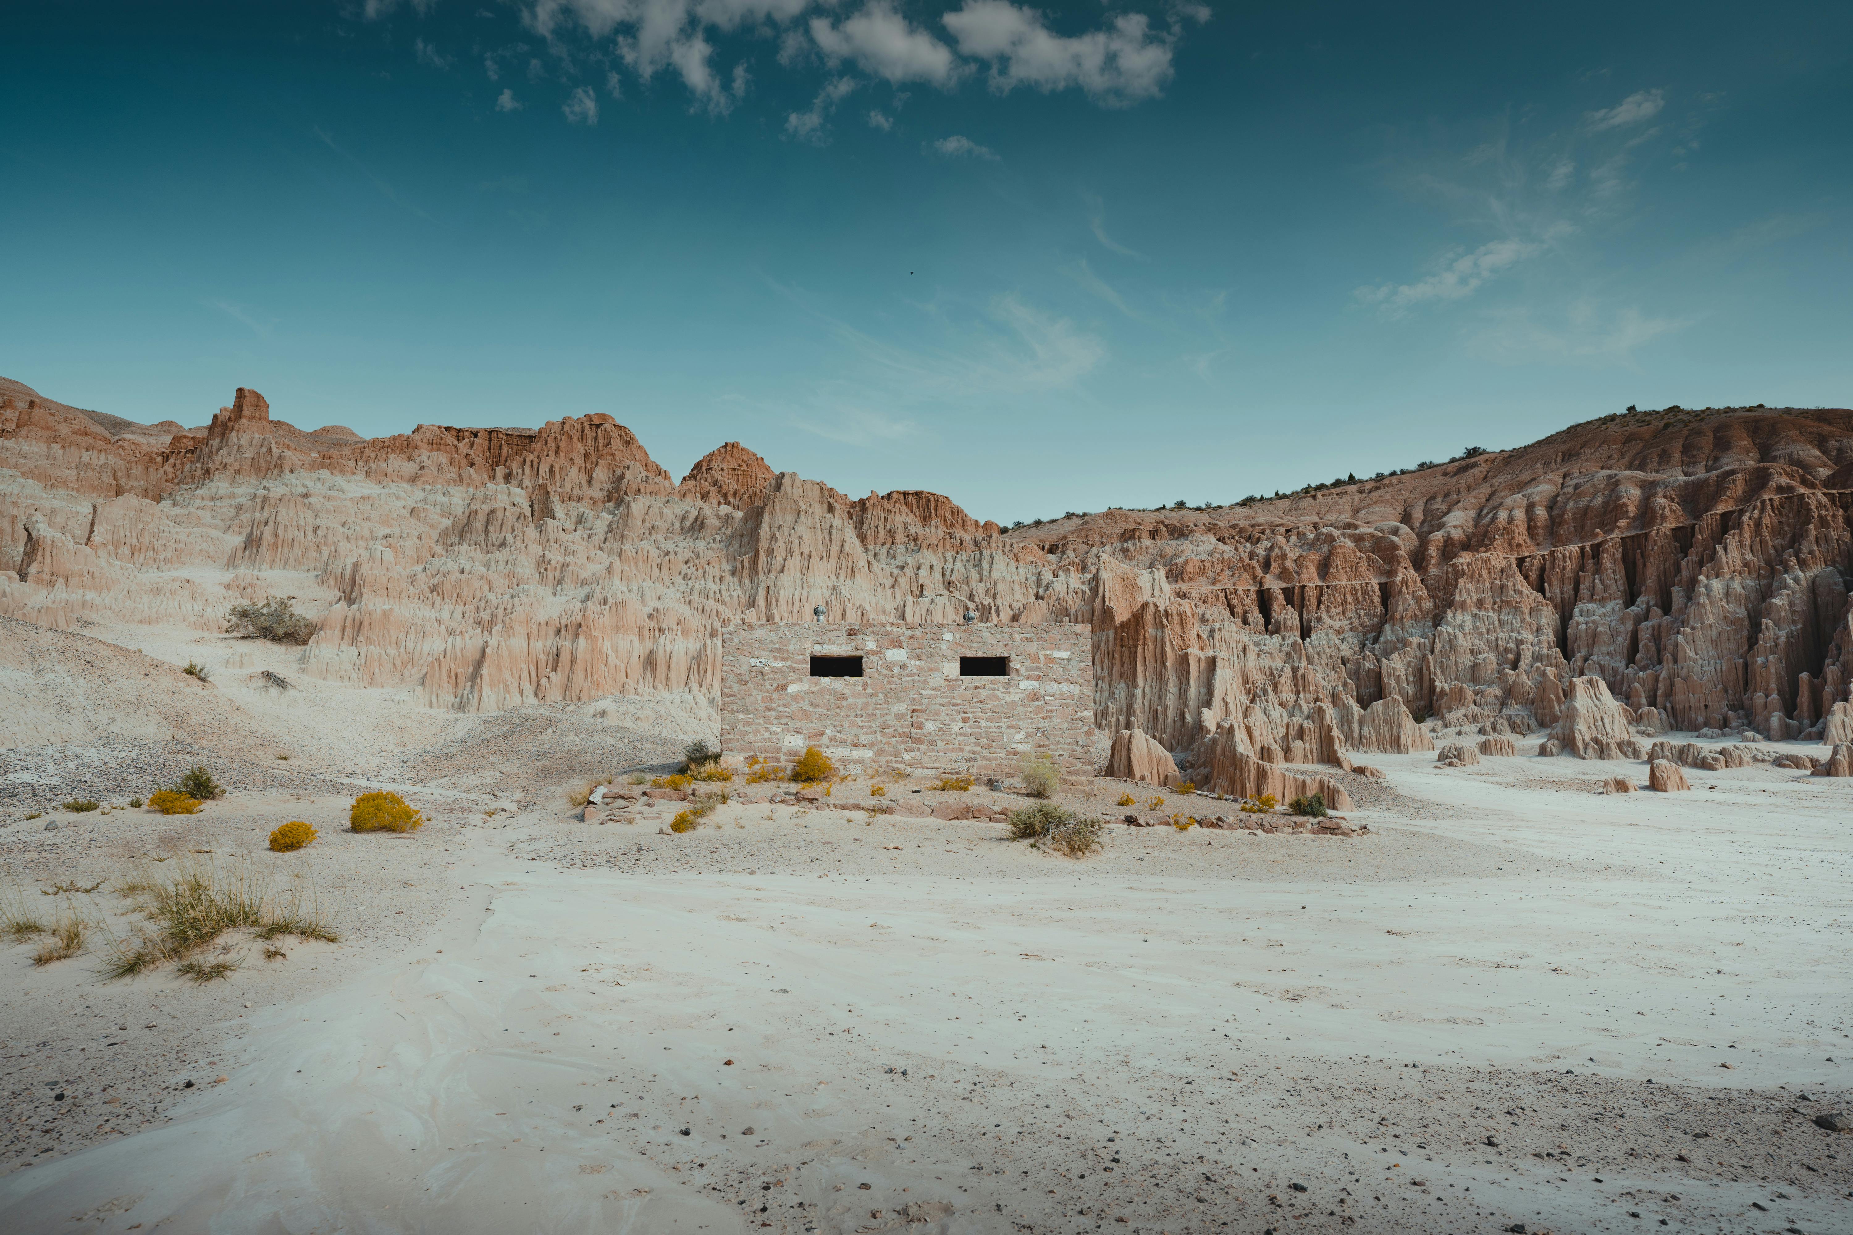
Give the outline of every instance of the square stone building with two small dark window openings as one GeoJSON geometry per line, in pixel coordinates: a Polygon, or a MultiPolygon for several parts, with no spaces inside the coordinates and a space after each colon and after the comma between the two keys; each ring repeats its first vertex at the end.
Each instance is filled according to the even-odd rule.
{"type": "Polygon", "coordinates": [[[1010,776],[1047,752],[1091,776],[1093,657],[1080,624],[737,624],[721,631],[721,750],[791,765],[1010,776]]]}

